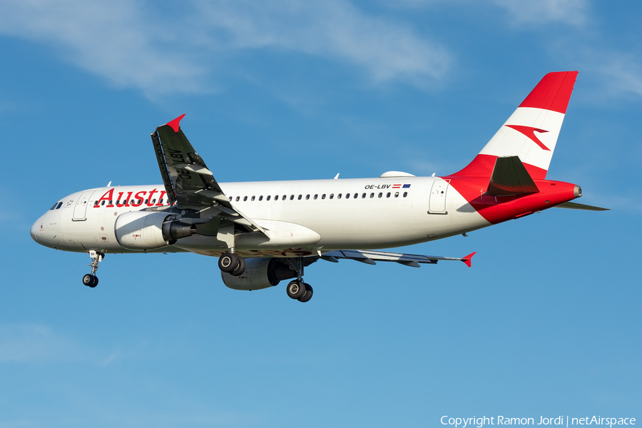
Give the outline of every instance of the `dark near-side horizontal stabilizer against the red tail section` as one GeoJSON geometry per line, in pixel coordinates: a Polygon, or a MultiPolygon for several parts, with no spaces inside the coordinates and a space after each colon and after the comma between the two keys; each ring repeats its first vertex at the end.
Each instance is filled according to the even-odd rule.
{"type": "Polygon", "coordinates": [[[539,189],[518,156],[496,158],[486,195],[525,195],[538,192],[539,189]]]}

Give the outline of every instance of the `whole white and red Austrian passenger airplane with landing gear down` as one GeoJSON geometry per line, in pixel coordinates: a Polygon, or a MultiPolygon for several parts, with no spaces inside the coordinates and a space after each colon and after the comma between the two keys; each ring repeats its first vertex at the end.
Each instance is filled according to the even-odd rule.
{"type": "Polygon", "coordinates": [[[91,188],[56,203],[31,226],[36,243],[88,253],[88,287],[108,253],[190,252],[218,257],[223,283],[260,290],[290,280],[307,302],[303,271],[317,260],[419,267],[463,258],[382,248],[464,235],[571,202],[579,185],[547,180],[577,71],[548,73],[462,170],[442,177],[389,171],[378,178],[218,183],[180,128],[151,133],[163,185],[91,188]]]}

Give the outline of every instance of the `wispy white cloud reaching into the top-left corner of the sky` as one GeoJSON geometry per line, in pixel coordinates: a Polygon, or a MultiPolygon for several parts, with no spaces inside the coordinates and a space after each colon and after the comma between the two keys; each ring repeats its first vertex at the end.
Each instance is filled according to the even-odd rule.
{"type": "Polygon", "coordinates": [[[161,49],[173,35],[129,0],[8,0],[0,5],[0,34],[60,51],[67,61],[119,87],[195,91],[203,69],[180,51],[161,49]]]}

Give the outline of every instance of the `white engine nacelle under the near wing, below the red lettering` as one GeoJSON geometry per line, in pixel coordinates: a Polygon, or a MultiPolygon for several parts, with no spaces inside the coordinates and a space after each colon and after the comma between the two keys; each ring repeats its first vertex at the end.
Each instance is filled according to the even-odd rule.
{"type": "Polygon", "coordinates": [[[116,240],[128,250],[154,250],[196,233],[196,226],[181,223],[167,213],[131,211],[116,218],[116,240]]]}

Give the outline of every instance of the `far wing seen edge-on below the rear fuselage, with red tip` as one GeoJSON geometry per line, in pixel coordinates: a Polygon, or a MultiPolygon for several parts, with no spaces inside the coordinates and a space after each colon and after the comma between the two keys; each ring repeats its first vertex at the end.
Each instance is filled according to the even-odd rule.
{"type": "MultiPolygon", "coordinates": [[[[475,252],[477,253],[477,252],[475,252]]],[[[468,267],[471,266],[472,256],[471,253],[463,258],[442,257],[439,255],[414,255],[403,253],[388,253],[387,251],[374,251],[374,250],[334,250],[321,255],[323,260],[329,262],[338,262],[339,259],[357,260],[357,262],[366,263],[367,265],[375,265],[375,262],[397,262],[402,265],[419,267],[419,263],[427,263],[429,265],[437,264],[439,260],[457,260],[466,263],[468,267]]]]}

